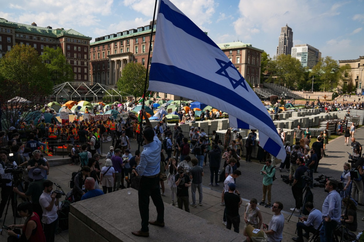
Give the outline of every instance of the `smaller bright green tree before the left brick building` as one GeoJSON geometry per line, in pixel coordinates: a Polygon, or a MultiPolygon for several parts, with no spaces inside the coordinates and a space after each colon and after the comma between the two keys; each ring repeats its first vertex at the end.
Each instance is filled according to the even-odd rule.
{"type": "Polygon", "coordinates": [[[53,85],[73,80],[74,72],[72,71],[71,65],[67,63],[61,48],[57,47],[57,49],[53,49],[46,47],[41,59],[46,64],[48,75],[53,85]]]}

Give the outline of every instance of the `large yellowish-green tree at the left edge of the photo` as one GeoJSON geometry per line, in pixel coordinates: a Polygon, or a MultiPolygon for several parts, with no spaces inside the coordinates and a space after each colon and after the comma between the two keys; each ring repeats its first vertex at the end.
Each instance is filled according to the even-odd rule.
{"type": "Polygon", "coordinates": [[[32,106],[39,104],[52,92],[46,66],[38,52],[28,45],[13,46],[0,60],[0,86],[0,108],[7,126],[16,126],[18,119],[21,123],[32,106]],[[15,97],[30,102],[19,98],[9,102],[15,97]],[[23,113],[20,118],[19,112],[23,113]]]}

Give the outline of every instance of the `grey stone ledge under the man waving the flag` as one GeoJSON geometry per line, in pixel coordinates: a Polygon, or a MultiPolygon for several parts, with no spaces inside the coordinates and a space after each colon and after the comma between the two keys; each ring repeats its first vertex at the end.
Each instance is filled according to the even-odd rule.
{"type": "MultiPolygon", "coordinates": [[[[165,204],[165,224],[149,226],[149,238],[136,237],[131,231],[141,228],[138,193],[126,189],[79,201],[71,205],[70,242],[88,241],[243,241],[245,237],[184,210],[165,204]],[[101,239],[100,239],[101,238],[101,239]]],[[[157,211],[150,201],[150,220],[157,211]]]]}

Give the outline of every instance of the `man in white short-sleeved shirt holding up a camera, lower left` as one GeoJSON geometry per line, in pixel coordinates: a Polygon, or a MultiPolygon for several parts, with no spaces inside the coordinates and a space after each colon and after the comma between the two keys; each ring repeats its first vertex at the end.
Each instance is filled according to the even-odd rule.
{"type": "Polygon", "coordinates": [[[47,242],[54,242],[56,226],[58,221],[57,207],[59,205],[59,197],[53,190],[53,182],[46,180],[43,182],[43,193],[39,197],[39,203],[43,210],[43,230],[46,235],[47,242]]]}

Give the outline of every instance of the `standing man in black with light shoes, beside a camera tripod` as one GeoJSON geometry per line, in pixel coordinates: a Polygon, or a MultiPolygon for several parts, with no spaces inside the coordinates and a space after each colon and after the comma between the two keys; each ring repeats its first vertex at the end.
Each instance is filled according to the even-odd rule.
{"type": "Polygon", "coordinates": [[[296,160],[297,169],[294,173],[294,180],[292,184],[292,194],[294,200],[296,201],[296,207],[291,208],[291,211],[299,213],[301,211],[302,205],[302,192],[306,185],[305,172],[308,170],[306,166],[303,165],[303,158],[298,157],[296,160]]]}

